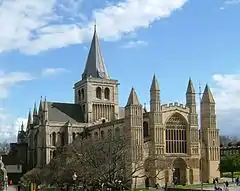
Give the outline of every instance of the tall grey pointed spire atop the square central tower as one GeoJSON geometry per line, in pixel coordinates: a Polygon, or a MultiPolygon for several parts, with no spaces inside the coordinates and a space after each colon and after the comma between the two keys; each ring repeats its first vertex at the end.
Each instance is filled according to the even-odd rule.
{"type": "Polygon", "coordinates": [[[94,25],[94,34],[88,53],[86,66],[82,74],[82,79],[86,79],[89,76],[109,79],[109,75],[100,50],[96,24],[94,25]]]}

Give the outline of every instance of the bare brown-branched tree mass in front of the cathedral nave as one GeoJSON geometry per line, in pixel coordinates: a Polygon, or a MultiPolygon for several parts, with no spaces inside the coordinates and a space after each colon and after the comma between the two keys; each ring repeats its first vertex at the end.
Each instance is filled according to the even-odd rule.
{"type": "MultiPolygon", "coordinates": [[[[48,168],[51,169],[54,182],[70,182],[73,173],[76,173],[77,181],[84,185],[129,188],[133,178],[146,177],[142,173],[144,163],[141,154],[133,156],[131,151],[130,139],[126,136],[109,135],[94,139],[85,132],[85,136],[66,146],[48,168]]],[[[155,165],[154,159],[151,163],[155,165]]],[[[158,173],[148,177],[157,177],[158,173]]]]}

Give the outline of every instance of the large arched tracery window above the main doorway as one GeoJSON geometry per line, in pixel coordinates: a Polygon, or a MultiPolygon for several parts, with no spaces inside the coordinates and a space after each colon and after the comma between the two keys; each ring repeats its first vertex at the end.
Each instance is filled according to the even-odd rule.
{"type": "Polygon", "coordinates": [[[179,113],[166,123],[166,152],[187,153],[187,122],[179,113]]]}

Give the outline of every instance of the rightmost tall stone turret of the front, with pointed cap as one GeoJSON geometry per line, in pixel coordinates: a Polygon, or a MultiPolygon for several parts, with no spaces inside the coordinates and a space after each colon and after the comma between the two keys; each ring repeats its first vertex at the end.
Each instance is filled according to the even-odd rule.
{"type": "Polygon", "coordinates": [[[215,100],[206,85],[201,100],[201,133],[202,133],[202,178],[210,181],[220,177],[220,138],[216,125],[215,100]]]}

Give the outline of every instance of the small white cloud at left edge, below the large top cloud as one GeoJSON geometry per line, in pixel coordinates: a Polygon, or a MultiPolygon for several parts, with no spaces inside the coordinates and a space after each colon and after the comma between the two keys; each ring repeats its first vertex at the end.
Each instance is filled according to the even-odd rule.
{"type": "Polygon", "coordinates": [[[0,71],[0,99],[8,98],[10,87],[33,79],[34,77],[26,72],[5,73],[3,71],[0,71]]]}

